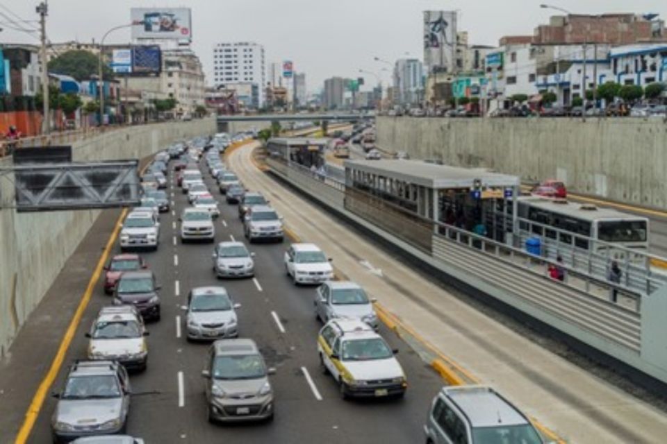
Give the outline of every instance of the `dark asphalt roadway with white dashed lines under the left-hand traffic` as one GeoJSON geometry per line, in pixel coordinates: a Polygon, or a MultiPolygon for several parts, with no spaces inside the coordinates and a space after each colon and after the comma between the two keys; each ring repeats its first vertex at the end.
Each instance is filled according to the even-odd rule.
{"type": "MultiPolygon", "coordinates": [[[[244,240],[236,205],[225,203],[213,179],[207,173],[205,176],[222,212],[215,222],[216,241],[244,240]]],[[[421,441],[429,399],[442,386],[434,370],[393,333],[381,330],[390,345],[400,349],[397,358],[409,380],[406,397],[379,402],[342,400],[334,381],[318,368],[316,339],[321,325],[313,314],[315,289],[295,287],[284,271],[283,253],[290,240],[283,244],[249,246],[256,253],[255,279],[217,280],[212,271],[213,244],[181,244],[178,238],[179,212],[189,204],[174,178],[170,178],[167,191],[174,205],[172,211],[161,216],[160,247],[154,253],[144,254],[162,287],[162,319],[148,325],[147,370],[131,375],[135,395],[130,434],[149,443],[421,441]],[[190,289],[207,285],[226,287],[234,300],[242,304],[238,310],[240,336],[254,339],[267,365],[277,368],[272,377],[276,397],[276,417],[272,423],[218,426],[206,420],[201,370],[208,345],[186,341],[184,316],[179,307],[185,303],[190,289]]],[[[118,251],[115,246],[114,253],[118,251]]],[[[99,307],[109,303],[110,296],[98,284],[65,363],[85,357],[84,332],[99,307]]],[[[65,367],[56,387],[61,386],[64,377],[65,367]]],[[[30,442],[46,443],[51,439],[49,420],[55,403],[56,400],[49,398],[44,404],[30,442]]]]}

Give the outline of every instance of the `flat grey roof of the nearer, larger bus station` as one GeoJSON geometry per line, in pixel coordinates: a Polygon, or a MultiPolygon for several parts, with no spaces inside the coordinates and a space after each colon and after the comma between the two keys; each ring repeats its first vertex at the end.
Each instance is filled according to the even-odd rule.
{"type": "Polygon", "coordinates": [[[470,188],[475,180],[484,187],[518,187],[517,176],[491,173],[483,168],[460,168],[417,160],[346,160],[345,169],[355,169],[420,185],[429,189],[470,188]]]}

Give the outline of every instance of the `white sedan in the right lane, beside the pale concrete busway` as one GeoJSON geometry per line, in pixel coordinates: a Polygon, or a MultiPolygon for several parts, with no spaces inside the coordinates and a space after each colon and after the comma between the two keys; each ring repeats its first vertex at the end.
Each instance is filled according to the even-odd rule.
{"type": "Polygon", "coordinates": [[[315,244],[292,244],[285,252],[285,270],[294,284],[322,284],[334,279],[331,259],[315,244]]]}

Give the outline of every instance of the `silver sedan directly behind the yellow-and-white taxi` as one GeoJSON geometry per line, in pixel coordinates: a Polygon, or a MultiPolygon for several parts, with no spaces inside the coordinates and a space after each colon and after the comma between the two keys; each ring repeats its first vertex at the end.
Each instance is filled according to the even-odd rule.
{"type": "Polygon", "coordinates": [[[375,299],[369,300],[359,284],[328,281],[316,291],[315,316],[325,324],[334,318],[358,319],[377,330],[378,321],[373,302],[375,299]]]}

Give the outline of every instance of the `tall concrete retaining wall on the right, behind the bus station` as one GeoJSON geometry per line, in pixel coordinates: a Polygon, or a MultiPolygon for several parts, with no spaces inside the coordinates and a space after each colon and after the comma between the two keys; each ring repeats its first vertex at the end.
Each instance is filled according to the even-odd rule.
{"type": "Polygon", "coordinates": [[[379,117],[377,143],[415,159],[557,178],[580,194],[667,209],[667,123],[661,119],[379,117]]]}

